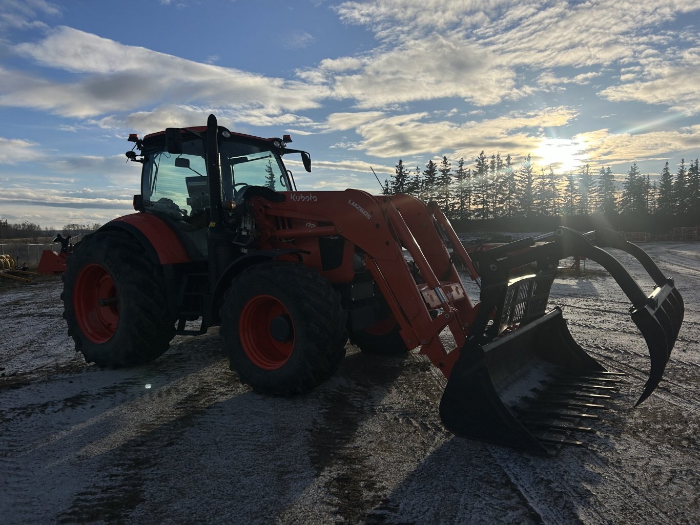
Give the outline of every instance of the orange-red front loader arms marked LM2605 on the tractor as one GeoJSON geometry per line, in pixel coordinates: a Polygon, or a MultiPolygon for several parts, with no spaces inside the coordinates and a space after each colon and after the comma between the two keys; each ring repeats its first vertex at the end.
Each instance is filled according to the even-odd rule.
{"type": "MultiPolygon", "coordinates": [[[[358,246],[365,254],[365,265],[400,325],[400,333],[413,348],[449,377],[465,342],[468,326],[475,314],[454,267],[454,260],[437,230],[436,207],[409,195],[374,197],[360,190],[311,192],[298,196],[286,193],[285,202],[253,200],[262,241],[284,242],[301,237],[339,236],[358,246]],[[280,217],[313,216],[314,228],[276,228],[280,217]],[[418,269],[416,282],[402,248],[418,269]],[[441,309],[435,315],[437,309],[441,309]],[[433,316],[431,316],[433,311],[433,316]],[[439,337],[448,326],[456,346],[448,351],[439,337]]],[[[448,223],[449,225],[449,223],[448,223]]],[[[451,230],[451,227],[449,227],[451,230]]],[[[469,256],[451,230],[463,264],[469,256]]]]}

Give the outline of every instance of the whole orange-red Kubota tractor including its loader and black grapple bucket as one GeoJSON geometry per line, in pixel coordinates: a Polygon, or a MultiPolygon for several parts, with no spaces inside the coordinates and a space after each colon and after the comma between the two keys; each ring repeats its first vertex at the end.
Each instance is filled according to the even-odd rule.
{"type": "Polygon", "coordinates": [[[328,379],[348,339],[362,351],[418,346],[449,379],[440,403],[458,435],[546,454],[569,439],[615,381],[547,311],[559,259],[580,255],[615,276],[651,354],[639,402],[656,388],[682,323],[673,279],[615,232],[559,228],[472,254],[434,203],[360,190],[297,191],[290,138],[206,127],[130,141],[143,165],[138,213],[73,249],[64,318],[88,363],[139,365],[174,335],[220,326],[230,366],[265,393],[304,393],[328,379]],[[657,283],[643,293],[601,247],[627,251],[657,283]],[[406,256],[406,252],[409,257],[406,256]],[[535,265],[528,276],[512,269],[535,265]],[[481,287],[472,304],[458,268],[481,287]],[[201,319],[198,330],[187,321],[201,319]],[[456,346],[446,348],[449,329],[456,346]],[[546,386],[543,386],[546,385],[546,386]]]}

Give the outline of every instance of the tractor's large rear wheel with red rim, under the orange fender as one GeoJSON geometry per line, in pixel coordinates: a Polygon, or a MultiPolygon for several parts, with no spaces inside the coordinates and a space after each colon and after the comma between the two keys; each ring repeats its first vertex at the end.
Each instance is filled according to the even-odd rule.
{"type": "Polygon", "coordinates": [[[66,261],[61,299],[68,334],[87,363],[148,363],[175,335],[165,281],[138,241],[99,232],[76,244],[66,261]]]}

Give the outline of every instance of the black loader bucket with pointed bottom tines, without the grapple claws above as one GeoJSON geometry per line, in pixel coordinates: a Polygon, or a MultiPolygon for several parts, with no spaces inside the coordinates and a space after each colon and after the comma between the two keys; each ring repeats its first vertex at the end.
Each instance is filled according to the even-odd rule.
{"type": "Polygon", "coordinates": [[[468,341],[440,417],[455,435],[551,454],[557,444],[582,444],[568,440],[566,429],[595,416],[587,412],[607,397],[596,388],[605,379],[605,368],[573,340],[556,308],[489,344],[468,341]]]}

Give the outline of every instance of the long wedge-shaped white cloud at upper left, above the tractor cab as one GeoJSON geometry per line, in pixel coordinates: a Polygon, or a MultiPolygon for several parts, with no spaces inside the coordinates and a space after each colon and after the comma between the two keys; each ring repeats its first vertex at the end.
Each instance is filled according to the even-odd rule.
{"type": "Polygon", "coordinates": [[[52,80],[4,69],[0,104],[88,118],[154,104],[204,104],[258,109],[270,116],[319,106],[323,87],[200,64],[94,34],[59,27],[38,43],[15,46],[39,64],[76,73],[76,81],[52,80]]]}

